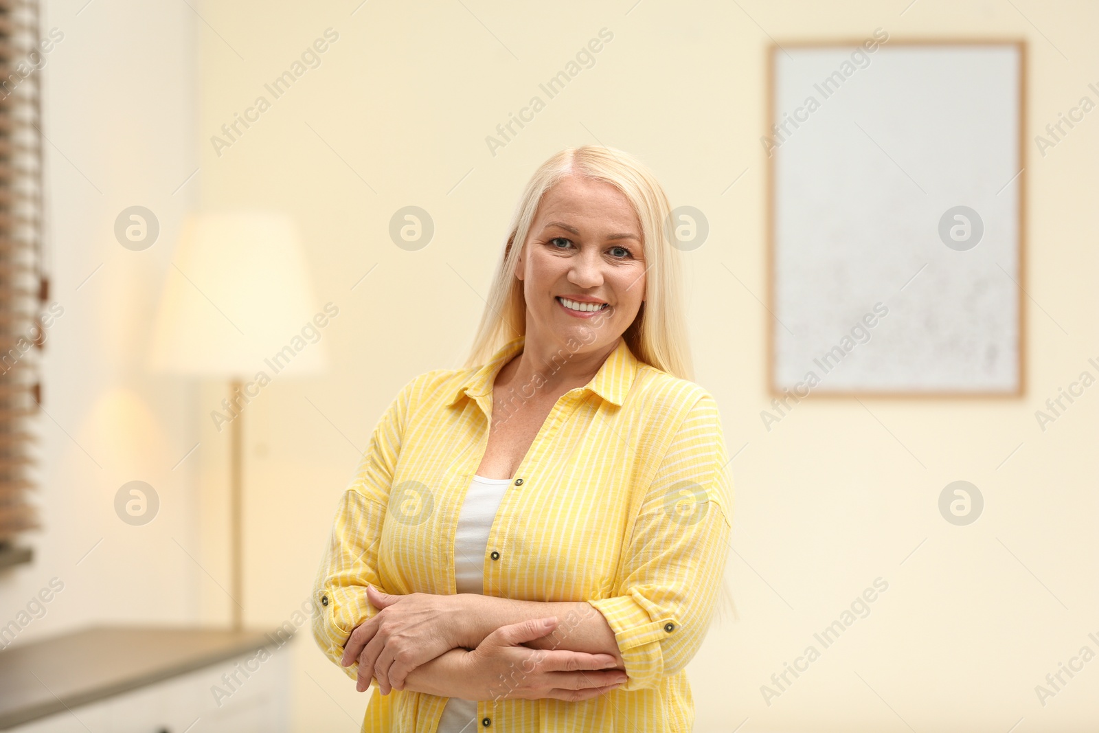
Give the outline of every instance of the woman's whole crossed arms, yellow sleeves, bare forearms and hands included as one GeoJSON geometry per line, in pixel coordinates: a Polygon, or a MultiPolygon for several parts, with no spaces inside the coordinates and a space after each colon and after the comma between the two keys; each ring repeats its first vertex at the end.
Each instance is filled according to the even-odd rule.
{"type": "Polygon", "coordinates": [[[689,409],[653,477],[614,595],[576,602],[378,591],[378,543],[406,404],[399,396],[375,429],[314,584],[314,638],[359,691],[375,679],[384,695],[575,701],[615,682],[624,691],[653,688],[687,665],[721,585],[732,509],[712,397],[689,409]],[[552,617],[556,624],[540,626],[552,617]]]}

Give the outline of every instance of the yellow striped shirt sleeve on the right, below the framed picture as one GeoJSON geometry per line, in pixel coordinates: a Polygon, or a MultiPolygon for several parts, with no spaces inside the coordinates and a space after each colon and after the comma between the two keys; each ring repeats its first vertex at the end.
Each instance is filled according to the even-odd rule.
{"type": "Polygon", "coordinates": [[[621,690],[678,673],[706,637],[729,551],[728,463],[717,402],[703,393],[646,492],[615,595],[589,601],[614,632],[628,678],[621,690]]]}

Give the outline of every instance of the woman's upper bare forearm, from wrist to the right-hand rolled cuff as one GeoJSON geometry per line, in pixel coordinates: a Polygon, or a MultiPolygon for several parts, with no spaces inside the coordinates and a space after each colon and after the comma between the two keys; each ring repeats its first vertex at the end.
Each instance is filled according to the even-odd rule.
{"type": "Polygon", "coordinates": [[[524,646],[537,649],[568,649],[588,654],[610,654],[622,666],[618,642],[607,619],[587,601],[521,601],[479,593],[459,593],[463,613],[463,645],[475,647],[486,636],[512,623],[557,617],[557,628],[524,646]]]}

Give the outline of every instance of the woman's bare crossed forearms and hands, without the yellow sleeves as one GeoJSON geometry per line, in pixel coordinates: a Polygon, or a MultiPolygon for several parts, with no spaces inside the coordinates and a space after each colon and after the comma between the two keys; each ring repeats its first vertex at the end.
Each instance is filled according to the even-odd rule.
{"type": "Polygon", "coordinates": [[[382,695],[586,700],[626,681],[614,632],[587,602],[518,601],[476,593],[392,596],[367,588],[379,613],[352,632],[341,657],[382,695]],[[556,618],[552,618],[556,617],[556,618]]]}

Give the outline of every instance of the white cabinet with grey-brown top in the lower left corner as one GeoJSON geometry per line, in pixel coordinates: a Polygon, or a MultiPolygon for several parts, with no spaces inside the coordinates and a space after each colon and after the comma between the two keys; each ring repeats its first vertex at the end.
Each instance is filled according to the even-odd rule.
{"type": "Polygon", "coordinates": [[[285,641],[285,634],[115,628],[12,647],[0,660],[0,730],[282,733],[289,730],[285,641]],[[25,722],[12,726],[19,719],[25,722]]]}

